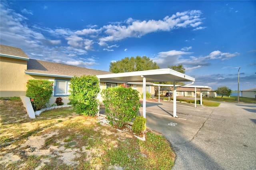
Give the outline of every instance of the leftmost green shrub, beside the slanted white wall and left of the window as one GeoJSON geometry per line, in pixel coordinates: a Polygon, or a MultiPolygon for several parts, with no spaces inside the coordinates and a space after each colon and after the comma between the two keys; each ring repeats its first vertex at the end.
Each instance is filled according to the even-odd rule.
{"type": "Polygon", "coordinates": [[[52,96],[53,82],[31,79],[27,82],[26,96],[30,98],[34,111],[46,107],[52,96]]]}

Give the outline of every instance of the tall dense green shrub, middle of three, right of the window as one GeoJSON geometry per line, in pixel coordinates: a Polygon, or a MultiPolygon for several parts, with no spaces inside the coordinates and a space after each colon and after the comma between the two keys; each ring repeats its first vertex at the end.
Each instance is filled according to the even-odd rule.
{"type": "Polygon", "coordinates": [[[80,115],[95,116],[98,112],[100,92],[99,79],[96,76],[73,77],[70,80],[70,104],[80,115]]]}

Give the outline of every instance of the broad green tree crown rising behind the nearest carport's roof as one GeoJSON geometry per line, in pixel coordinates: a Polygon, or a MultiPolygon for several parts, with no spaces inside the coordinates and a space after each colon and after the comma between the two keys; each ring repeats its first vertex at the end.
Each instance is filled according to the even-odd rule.
{"type": "Polygon", "coordinates": [[[149,57],[137,56],[134,57],[125,57],[119,61],[111,62],[109,66],[109,71],[112,73],[126,73],[132,71],[144,71],[159,69],[160,67],[153,62],[149,57]]]}

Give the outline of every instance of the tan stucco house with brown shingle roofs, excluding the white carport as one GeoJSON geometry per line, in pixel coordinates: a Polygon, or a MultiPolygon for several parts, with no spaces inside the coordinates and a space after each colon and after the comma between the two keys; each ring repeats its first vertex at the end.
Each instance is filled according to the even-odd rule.
{"type": "MultiPolygon", "coordinates": [[[[112,74],[108,71],[88,69],[60,63],[52,63],[30,59],[22,49],[7,45],[0,45],[0,97],[14,97],[26,95],[26,82],[29,79],[46,79],[54,81],[54,89],[50,105],[57,97],[62,97],[67,104],[68,84],[74,76],[112,74]]],[[[100,82],[100,88],[116,87],[122,83],[100,82]]],[[[142,85],[130,85],[142,94],[142,85]]],[[[148,86],[148,91],[152,87],[148,86]]],[[[154,94],[154,91],[152,91],[154,94]]]]}

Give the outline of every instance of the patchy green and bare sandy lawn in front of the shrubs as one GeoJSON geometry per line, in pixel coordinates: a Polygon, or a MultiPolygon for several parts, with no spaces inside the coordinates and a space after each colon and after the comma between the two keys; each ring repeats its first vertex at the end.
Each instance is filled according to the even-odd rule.
{"type": "Polygon", "coordinates": [[[145,141],[71,107],[30,119],[20,98],[0,100],[0,169],[171,169],[168,141],[146,130],[145,141]]]}

